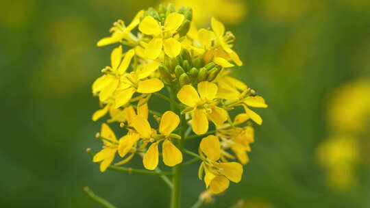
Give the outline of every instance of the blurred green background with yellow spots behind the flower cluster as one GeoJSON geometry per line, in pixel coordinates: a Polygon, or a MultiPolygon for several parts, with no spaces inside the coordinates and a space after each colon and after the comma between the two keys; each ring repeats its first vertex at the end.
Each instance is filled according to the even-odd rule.
{"type": "MultiPolygon", "coordinates": [[[[196,11],[216,15],[234,32],[245,63],[236,76],[269,108],[257,109],[264,124],[256,127],[243,180],[209,207],[238,200],[250,208],[370,207],[370,90],[351,85],[360,80],[359,88],[369,89],[370,1],[211,2],[196,11]],[[362,94],[353,101],[352,92],[362,94]],[[356,108],[360,120],[351,118],[351,104],[365,102],[356,108]],[[360,130],[341,131],[330,115],[360,130]],[[318,153],[338,136],[356,142],[348,148],[333,139],[318,153]]],[[[86,185],[118,207],[168,207],[170,193],[158,177],[102,174],[85,153],[101,146],[94,138],[99,122],[90,119],[98,108],[90,86],[112,49],[95,44],[117,19],[129,22],[158,3],[1,1],[0,207],[100,207],[82,191],[86,185]]],[[[204,190],[197,166],[184,174],[184,207],[204,190]]]]}

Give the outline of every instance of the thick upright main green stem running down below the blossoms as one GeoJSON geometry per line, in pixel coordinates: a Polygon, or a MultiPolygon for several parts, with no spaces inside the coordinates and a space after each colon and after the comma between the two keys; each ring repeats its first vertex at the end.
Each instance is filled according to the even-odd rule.
{"type": "MultiPolygon", "coordinates": [[[[170,96],[171,96],[171,110],[173,112],[177,109],[177,103],[176,103],[176,91],[172,87],[170,90],[170,96]]],[[[180,111],[178,112],[180,114],[180,111]]],[[[180,136],[181,139],[178,141],[177,148],[179,148],[180,151],[183,151],[184,148],[184,141],[185,141],[185,131],[186,131],[186,119],[184,114],[180,114],[180,136]]],[[[182,165],[177,164],[175,167],[173,167],[173,188],[171,192],[171,208],[180,208],[181,207],[181,179],[182,179],[182,165]]]]}

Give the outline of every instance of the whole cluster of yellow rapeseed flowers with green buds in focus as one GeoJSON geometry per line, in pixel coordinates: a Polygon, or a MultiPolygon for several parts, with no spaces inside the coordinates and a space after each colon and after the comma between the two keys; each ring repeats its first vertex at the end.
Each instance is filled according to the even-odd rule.
{"type": "Polygon", "coordinates": [[[101,105],[93,120],[106,118],[97,133],[103,147],[93,156],[101,172],[126,165],[135,155],[145,171],[160,172],[162,158],[174,167],[175,190],[179,167],[190,164],[183,163],[186,154],[201,161],[199,179],[212,194],[224,192],[230,181],[238,183],[254,142],[252,126],[262,124],[251,107],[267,105],[231,77],[233,68],[243,65],[232,32],[214,17],[210,28],[197,28],[190,8],[173,5],[142,10],[127,26],[119,20],[110,31],[97,42],[115,44],[110,66],[93,83],[101,105]],[[169,103],[167,111],[153,109],[153,96],[169,103]],[[119,133],[108,126],[114,123],[119,133]],[[185,148],[190,139],[199,140],[197,151],[185,148]],[[112,166],[117,156],[121,161],[112,166]]]}

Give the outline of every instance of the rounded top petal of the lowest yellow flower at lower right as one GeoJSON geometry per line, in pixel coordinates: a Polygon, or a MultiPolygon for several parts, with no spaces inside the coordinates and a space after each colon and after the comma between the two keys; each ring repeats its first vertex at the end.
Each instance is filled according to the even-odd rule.
{"type": "Polygon", "coordinates": [[[209,159],[213,161],[220,159],[221,144],[219,138],[215,135],[208,135],[208,137],[203,138],[199,144],[199,148],[209,159]]]}

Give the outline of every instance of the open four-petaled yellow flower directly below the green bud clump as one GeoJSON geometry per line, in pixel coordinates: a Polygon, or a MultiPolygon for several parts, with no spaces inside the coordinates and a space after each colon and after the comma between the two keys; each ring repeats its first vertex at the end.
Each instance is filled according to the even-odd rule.
{"type": "Polygon", "coordinates": [[[189,107],[192,128],[198,135],[208,131],[208,119],[217,126],[223,125],[223,122],[227,120],[225,109],[217,107],[217,90],[218,87],[215,83],[202,81],[198,83],[198,91],[193,86],[185,85],[177,93],[180,102],[189,107]]]}

